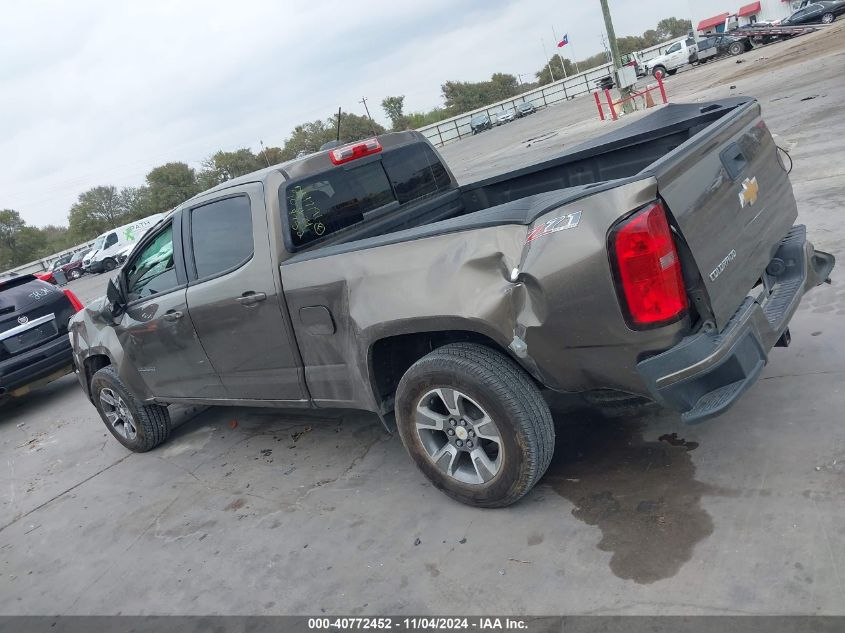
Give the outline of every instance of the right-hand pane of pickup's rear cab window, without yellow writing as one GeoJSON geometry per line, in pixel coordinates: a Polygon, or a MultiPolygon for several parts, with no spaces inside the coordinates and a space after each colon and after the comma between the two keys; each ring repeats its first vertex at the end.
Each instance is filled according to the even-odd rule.
{"type": "Polygon", "coordinates": [[[401,204],[449,188],[449,173],[431,148],[423,143],[394,150],[382,159],[401,204]]]}

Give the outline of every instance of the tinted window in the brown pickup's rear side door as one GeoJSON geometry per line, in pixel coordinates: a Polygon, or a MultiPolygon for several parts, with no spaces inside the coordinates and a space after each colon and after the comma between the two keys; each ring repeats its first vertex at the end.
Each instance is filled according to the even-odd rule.
{"type": "Polygon", "coordinates": [[[252,211],[247,196],[191,209],[191,244],[197,278],[213,277],[252,257],[252,211]]]}

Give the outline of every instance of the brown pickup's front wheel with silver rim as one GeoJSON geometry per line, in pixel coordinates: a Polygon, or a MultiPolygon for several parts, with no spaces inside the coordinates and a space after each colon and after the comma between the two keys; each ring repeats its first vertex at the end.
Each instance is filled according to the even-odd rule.
{"type": "Polygon", "coordinates": [[[111,366],[94,374],[91,396],[106,428],[130,451],[145,453],[170,436],[167,407],[141,404],[111,366]]]}

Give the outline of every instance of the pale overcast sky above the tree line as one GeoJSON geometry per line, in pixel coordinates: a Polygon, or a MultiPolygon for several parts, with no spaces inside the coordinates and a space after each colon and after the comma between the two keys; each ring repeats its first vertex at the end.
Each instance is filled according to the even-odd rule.
{"type": "MultiPolygon", "coordinates": [[[[611,0],[618,35],[741,2],[611,0]]],[[[530,75],[552,28],[602,50],[598,0],[3,0],[0,208],[65,224],[82,191],[154,166],[281,145],[338,106],[384,120],[441,103],[446,80],[530,75]]]]}

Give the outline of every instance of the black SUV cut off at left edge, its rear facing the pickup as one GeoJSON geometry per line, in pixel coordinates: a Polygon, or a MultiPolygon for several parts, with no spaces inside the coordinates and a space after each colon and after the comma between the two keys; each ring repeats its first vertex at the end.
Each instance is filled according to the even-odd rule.
{"type": "Polygon", "coordinates": [[[22,395],[73,371],[67,327],[81,309],[70,290],[34,275],[0,279],[0,397],[22,395]]]}

